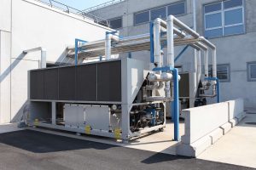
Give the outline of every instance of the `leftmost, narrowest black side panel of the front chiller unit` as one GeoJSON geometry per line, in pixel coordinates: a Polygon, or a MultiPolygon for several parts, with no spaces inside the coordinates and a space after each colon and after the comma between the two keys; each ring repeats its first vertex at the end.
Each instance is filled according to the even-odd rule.
{"type": "Polygon", "coordinates": [[[30,98],[44,99],[44,71],[30,72],[30,98]]]}

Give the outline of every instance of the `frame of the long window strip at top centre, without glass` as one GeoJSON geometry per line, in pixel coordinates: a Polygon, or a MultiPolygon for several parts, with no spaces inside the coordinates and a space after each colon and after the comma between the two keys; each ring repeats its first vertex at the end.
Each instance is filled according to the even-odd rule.
{"type": "Polygon", "coordinates": [[[184,3],[184,14],[177,14],[176,16],[178,17],[178,16],[183,16],[183,15],[185,15],[185,14],[187,14],[187,0],[178,0],[177,2],[173,2],[173,3],[166,3],[165,5],[161,5],[161,6],[158,6],[158,7],[154,7],[154,8],[147,8],[147,9],[143,9],[143,10],[141,10],[141,11],[138,11],[138,12],[135,12],[135,13],[133,13],[133,26],[139,26],[139,25],[143,25],[143,24],[147,24],[147,23],[149,23],[150,21],[152,21],[151,20],[151,10],[154,10],[154,9],[157,9],[157,8],[163,8],[163,7],[165,7],[166,8],[166,17],[168,16],[168,6],[170,6],[170,5],[175,5],[175,4],[177,4],[177,3],[184,3]],[[135,15],[136,14],[141,14],[141,13],[143,13],[143,12],[146,12],[146,11],[148,11],[148,13],[149,13],[149,21],[146,21],[146,22],[141,22],[141,23],[136,23],[136,21],[135,21],[135,15]]]}

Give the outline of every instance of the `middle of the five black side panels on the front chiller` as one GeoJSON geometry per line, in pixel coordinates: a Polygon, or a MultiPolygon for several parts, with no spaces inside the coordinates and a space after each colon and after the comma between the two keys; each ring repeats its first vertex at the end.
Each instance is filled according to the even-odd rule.
{"type": "Polygon", "coordinates": [[[59,99],[75,100],[75,67],[59,68],[59,99]]]}

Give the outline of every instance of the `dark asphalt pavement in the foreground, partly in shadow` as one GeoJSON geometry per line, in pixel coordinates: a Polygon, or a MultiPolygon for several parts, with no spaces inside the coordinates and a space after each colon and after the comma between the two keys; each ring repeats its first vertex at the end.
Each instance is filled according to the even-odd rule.
{"type": "Polygon", "coordinates": [[[0,169],[250,169],[30,130],[0,134],[0,169]]]}

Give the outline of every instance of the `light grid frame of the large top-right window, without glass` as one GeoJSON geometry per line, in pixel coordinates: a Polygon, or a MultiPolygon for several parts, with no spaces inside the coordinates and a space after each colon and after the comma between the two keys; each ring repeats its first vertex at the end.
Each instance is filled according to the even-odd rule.
{"type": "MultiPolygon", "coordinates": [[[[224,0],[224,1],[228,1],[228,0],[224,0]]],[[[242,5],[241,5],[241,6],[232,7],[232,8],[224,8],[224,1],[219,1],[219,0],[218,0],[218,1],[213,2],[213,3],[205,3],[205,4],[202,5],[204,35],[206,36],[206,31],[222,29],[222,35],[221,35],[221,36],[207,37],[208,39],[218,38],[218,37],[230,37],[230,36],[236,36],[236,35],[246,34],[245,1],[244,1],[244,0],[241,0],[241,2],[242,2],[242,5]],[[212,12],[209,12],[209,13],[206,13],[205,7],[208,6],[208,5],[216,4],[216,3],[221,3],[221,9],[220,9],[220,10],[216,10],[216,11],[212,11],[212,12]],[[242,22],[241,22],[241,23],[237,23],[237,24],[231,24],[231,25],[225,26],[225,12],[231,11],[231,10],[236,10],[236,9],[239,9],[239,8],[241,8],[241,13],[242,13],[241,18],[242,18],[242,22]],[[218,13],[221,14],[222,26],[216,26],[216,27],[212,27],[212,28],[207,28],[206,16],[207,16],[207,15],[210,15],[210,14],[218,14],[218,13]],[[242,26],[243,32],[225,35],[225,34],[224,34],[224,29],[225,29],[225,28],[232,27],[232,26],[242,26]]]]}

